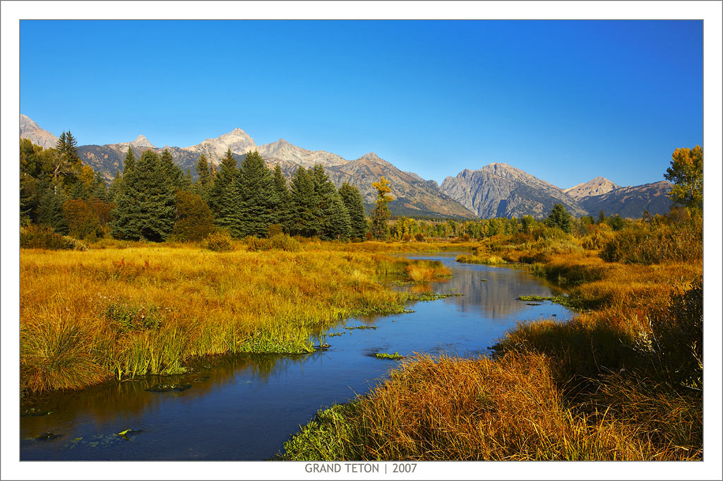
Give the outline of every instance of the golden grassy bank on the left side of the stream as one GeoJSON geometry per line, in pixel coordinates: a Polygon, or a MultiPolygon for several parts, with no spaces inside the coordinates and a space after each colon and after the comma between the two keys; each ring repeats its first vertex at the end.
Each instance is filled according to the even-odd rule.
{"type": "Polygon", "coordinates": [[[385,281],[448,275],[439,263],[380,253],[399,250],[387,246],[394,244],[248,252],[238,242],[221,253],[114,241],[84,252],[24,249],[21,392],[184,373],[189,359],[207,354],[312,352],[315,337],[342,318],[402,312],[414,294],[385,281]]]}

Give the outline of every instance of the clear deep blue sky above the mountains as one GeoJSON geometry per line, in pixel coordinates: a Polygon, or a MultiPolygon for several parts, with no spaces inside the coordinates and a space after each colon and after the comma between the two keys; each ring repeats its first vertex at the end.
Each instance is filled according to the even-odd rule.
{"type": "Polygon", "coordinates": [[[701,21],[22,21],[20,111],[80,145],[236,127],[441,182],[663,179],[703,141],[701,21]]]}

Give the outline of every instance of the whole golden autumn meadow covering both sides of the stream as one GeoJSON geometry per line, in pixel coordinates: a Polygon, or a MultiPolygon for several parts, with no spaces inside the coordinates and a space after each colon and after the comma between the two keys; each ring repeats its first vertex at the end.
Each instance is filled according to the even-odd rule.
{"type": "Polygon", "coordinates": [[[344,318],[422,299],[394,284],[449,275],[390,253],[466,250],[458,261],[555,281],[577,314],[520,323],[489,357],[404,357],[367,395],[321,409],[278,459],[702,459],[699,218],[577,234],[540,225],[470,242],[208,247],[23,249],[22,393],[183,373],[210,354],[313,352],[344,318]]]}

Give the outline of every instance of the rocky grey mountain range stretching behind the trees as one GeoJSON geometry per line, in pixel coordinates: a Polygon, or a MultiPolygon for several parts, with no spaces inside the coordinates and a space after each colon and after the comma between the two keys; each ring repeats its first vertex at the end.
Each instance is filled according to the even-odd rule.
{"type": "MultiPolygon", "coordinates": [[[[22,114],[20,137],[44,148],[54,147],[58,139],[22,114]]],[[[167,149],[181,169],[190,169],[192,174],[195,174],[201,154],[218,166],[228,149],[239,163],[247,153],[257,150],[268,166],[273,168],[278,163],[287,179],[291,179],[299,166],[311,167],[320,163],[337,187],[343,182],[359,187],[367,208],[372,207],[376,197],[372,183],[385,176],[394,197],[389,205],[394,215],[448,218],[531,215],[543,218],[555,203],[562,203],[576,217],[587,214],[597,216],[599,210],[604,210],[608,216],[620,214],[638,218],[646,209],[653,215],[666,213],[671,205],[668,194],[672,184],[669,182],[620,187],[604,177],[596,177],[563,190],[506,163],[490,163],[479,170],[464,169],[457,176],[447,177],[440,186],[414,172],[397,169],[375,153],[350,161],[325,150],[300,148],[283,139],[257,145],[250,135],[238,128],[189,147],[166,145],[158,148],[139,135],[132,142],[80,145],[78,152],[83,162],[111,180],[116,171],[122,171],[129,147],[136,157],[145,150],[161,153],[167,149]]]]}

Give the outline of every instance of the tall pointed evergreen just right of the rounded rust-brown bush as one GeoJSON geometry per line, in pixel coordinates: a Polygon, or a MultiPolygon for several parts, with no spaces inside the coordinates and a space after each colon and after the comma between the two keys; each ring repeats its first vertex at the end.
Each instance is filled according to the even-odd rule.
{"type": "Polygon", "coordinates": [[[228,230],[234,237],[241,237],[241,218],[239,208],[239,169],[236,169],[236,158],[228,149],[221,159],[221,170],[215,176],[213,187],[208,196],[208,205],[215,216],[216,225],[228,230]]]}

